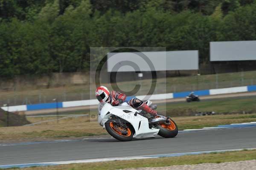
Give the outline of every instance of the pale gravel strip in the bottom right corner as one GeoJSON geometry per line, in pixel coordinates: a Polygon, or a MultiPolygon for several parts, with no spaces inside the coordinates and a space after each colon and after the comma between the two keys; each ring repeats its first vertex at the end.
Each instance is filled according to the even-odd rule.
{"type": "Polygon", "coordinates": [[[193,165],[173,165],[170,167],[128,168],[122,170],[256,170],[256,160],[224,162],[219,164],[203,163],[193,165]]]}

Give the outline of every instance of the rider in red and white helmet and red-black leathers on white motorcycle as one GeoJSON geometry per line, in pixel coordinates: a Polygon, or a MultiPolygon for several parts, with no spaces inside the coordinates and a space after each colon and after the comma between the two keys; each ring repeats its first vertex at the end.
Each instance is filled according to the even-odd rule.
{"type": "MultiPolygon", "coordinates": [[[[98,101],[100,102],[98,108],[99,112],[102,109],[105,102],[111,104],[112,106],[118,106],[119,104],[122,104],[126,99],[125,94],[116,92],[114,90],[109,92],[108,88],[105,86],[97,87],[95,95],[98,101]]],[[[157,111],[151,109],[147,104],[145,104],[138,98],[132,98],[130,101],[128,101],[128,104],[134,109],[141,109],[147,113],[150,113],[151,115],[157,115],[157,111]]]]}

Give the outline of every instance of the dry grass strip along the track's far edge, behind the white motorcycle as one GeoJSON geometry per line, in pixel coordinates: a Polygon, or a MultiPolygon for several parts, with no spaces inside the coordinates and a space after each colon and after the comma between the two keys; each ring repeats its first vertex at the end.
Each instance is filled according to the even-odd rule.
{"type": "MultiPolygon", "coordinates": [[[[98,122],[89,122],[86,118],[69,118],[25,127],[1,127],[0,143],[19,141],[38,141],[59,138],[77,138],[108,134],[99,126],[98,122]]],[[[179,130],[213,127],[221,124],[243,123],[256,121],[256,114],[248,115],[212,115],[212,116],[186,116],[174,117],[179,130]]]]}

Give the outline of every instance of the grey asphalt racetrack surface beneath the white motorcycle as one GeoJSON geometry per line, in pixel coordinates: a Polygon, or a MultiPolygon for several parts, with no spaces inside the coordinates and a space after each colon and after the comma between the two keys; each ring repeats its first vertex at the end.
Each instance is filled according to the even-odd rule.
{"type": "Polygon", "coordinates": [[[57,143],[0,145],[0,165],[244,148],[256,148],[255,127],[179,133],[175,138],[150,138],[128,142],[101,138],[57,143]]]}

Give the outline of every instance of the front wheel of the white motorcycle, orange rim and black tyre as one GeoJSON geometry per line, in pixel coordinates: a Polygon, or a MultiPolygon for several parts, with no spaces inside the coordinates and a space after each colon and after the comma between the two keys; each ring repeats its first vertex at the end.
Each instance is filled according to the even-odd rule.
{"type": "Polygon", "coordinates": [[[122,127],[120,123],[116,122],[118,122],[117,119],[109,119],[105,123],[108,133],[119,141],[131,141],[134,135],[131,124],[124,123],[126,127],[122,127]]]}

